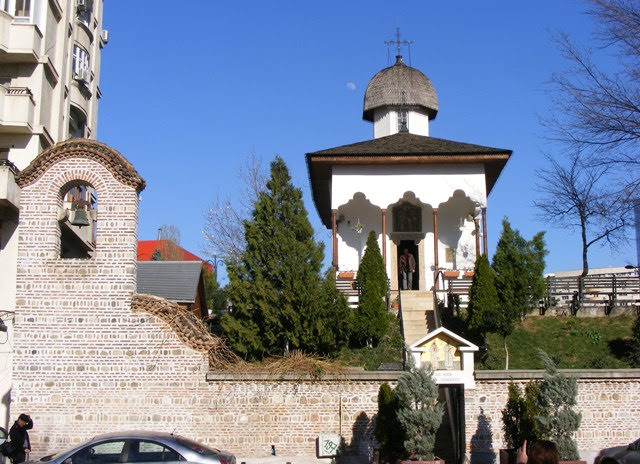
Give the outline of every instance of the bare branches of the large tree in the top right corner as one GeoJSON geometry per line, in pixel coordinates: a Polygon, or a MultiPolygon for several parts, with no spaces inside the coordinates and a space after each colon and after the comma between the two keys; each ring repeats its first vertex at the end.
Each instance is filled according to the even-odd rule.
{"type": "Polygon", "coordinates": [[[570,64],[551,78],[554,115],[545,120],[552,137],[578,151],[584,164],[611,167],[606,175],[622,197],[640,185],[640,2],[590,0],[597,49],[557,37],[570,64]],[[594,53],[595,52],[595,53],[594,53]],[[599,65],[604,54],[606,68],[599,65]],[[613,60],[612,60],[613,59],[613,60]],[[612,61],[614,65],[612,65],[612,61]]]}

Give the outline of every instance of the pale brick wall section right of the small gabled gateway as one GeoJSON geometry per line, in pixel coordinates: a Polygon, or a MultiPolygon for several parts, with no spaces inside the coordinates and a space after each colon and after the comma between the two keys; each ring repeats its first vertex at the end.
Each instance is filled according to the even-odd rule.
{"type": "MultiPolygon", "coordinates": [[[[582,423],[576,436],[581,457],[640,437],[640,370],[563,371],[578,377],[582,423]]],[[[474,462],[490,462],[504,448],[502,414],[513,378],[522,388],[542,371],[476,371],[475,390],[465,392],[467,452],[474,462]]]]}

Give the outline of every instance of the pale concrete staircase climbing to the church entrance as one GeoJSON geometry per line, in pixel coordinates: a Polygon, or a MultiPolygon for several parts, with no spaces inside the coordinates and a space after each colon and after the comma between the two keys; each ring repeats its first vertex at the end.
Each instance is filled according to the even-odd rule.
{"type": "Polygon", "coordinates": [[[434,330],[433,292],[401,290],[402,330],[407,345],[420,340],[434,330]]]}

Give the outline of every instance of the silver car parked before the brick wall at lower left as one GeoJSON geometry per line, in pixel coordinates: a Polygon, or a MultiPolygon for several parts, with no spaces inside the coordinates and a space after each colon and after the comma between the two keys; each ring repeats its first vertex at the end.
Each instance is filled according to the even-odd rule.
{"type": "Polygon", "coordinates": [[[233,454],[180,435],[116,432],[98,435],[82,445],[40,459],[48,464],[167,463],[236,464],[233,454]]]}

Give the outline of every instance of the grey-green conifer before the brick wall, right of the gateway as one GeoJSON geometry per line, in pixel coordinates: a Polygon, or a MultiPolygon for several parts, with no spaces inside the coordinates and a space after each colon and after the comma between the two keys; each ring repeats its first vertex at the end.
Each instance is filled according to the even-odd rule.
{"type": "Polygon", "coordinates": [[[578,447],[573,434],[580,428],[582,416],[573,408],[577,404],[578,381],[558,372],[553,360],[543,350],[538,350],[545,368],[540,382],[539,405],[544,413],[538,416],[542,434],[558,445],[562,461],[579,459],[578,447]]]}

